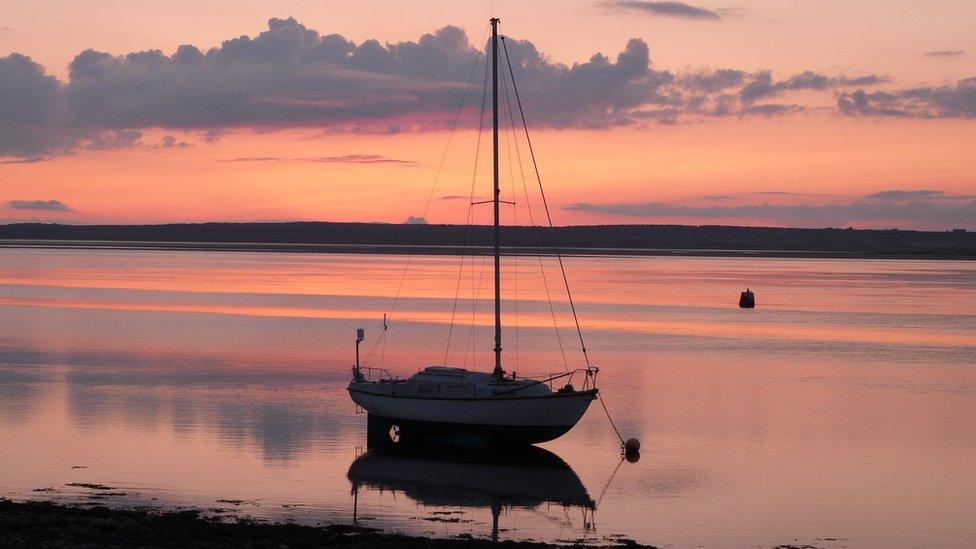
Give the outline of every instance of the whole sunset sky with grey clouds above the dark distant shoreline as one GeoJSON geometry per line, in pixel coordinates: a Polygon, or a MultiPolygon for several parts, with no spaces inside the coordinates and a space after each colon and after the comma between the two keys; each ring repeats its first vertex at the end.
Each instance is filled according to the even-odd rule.
{"type": "Polygon", "coordinates": [[[463,222],[492,15],[556,224],[976,229],[972,0],[8,1],[0,222],[463,222]]]}

